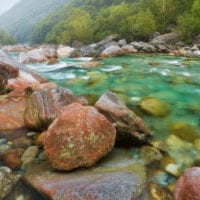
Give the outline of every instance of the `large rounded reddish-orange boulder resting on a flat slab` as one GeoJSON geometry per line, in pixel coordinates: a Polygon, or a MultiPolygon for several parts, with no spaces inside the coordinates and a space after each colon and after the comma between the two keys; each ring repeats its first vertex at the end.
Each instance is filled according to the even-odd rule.
{"type": "Polygon", "coordinates": [[[110,152],[115,128],[94,107],[70,104],[49,127],[44,149],[53,168],[89,167],[110,152]]]}

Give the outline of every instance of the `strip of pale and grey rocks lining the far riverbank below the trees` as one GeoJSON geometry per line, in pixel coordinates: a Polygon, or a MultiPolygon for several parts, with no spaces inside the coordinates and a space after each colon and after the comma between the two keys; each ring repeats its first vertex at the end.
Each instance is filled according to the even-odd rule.
{"type": "MultiPolygon", "coordinates": [[[[177,33],[155,33],[149,42],[132,41],[127,43],[118,35],[111,35],[104,40],[83,45],[74,42],[71,46],[64,45],[14,45],[5,46],[2,51],[20,53],[21,63],[48,62],[54,64],[57,58],[93,57],[95,59],[110,56],[121,56],[135,53],[164,53],[185,57],[200,57],[200,43],[188,46],[177,33]]],[[[94,59],[94,60],[95,60],[94,59]]]]}

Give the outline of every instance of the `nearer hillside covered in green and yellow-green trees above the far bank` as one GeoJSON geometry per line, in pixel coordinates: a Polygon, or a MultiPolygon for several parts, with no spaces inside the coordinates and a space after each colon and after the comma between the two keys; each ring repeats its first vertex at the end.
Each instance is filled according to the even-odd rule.
{"type": "Polygon", "coordinates": [[[200,34],[199,0],[72,0],[33,29],[32,43],[85,44],[119,34],[127,41],[149,40],[159,31],[178,31],[190,42],[200,34]],[[169,28],[171,27],[171,28],[169,28]]]}

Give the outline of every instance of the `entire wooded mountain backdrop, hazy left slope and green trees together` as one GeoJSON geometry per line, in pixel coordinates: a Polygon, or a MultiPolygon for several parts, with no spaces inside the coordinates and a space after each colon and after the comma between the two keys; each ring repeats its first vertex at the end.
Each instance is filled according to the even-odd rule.
{"type": "Polygon", "coordinates": [[[200,33],[199,18],[199,0],[21,0],[0,18],[0,26],[20,42],[38,44],[87,44],[111,34],[148,40],[170,25],[188,40],[200,33]]]}

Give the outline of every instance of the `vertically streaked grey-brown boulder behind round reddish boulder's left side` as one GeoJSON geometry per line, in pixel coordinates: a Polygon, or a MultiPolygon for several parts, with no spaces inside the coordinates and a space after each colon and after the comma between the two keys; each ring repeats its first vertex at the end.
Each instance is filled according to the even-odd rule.
{"type": "Polygon", "coordinates": [[[45,130],[63,106],[72,102],[87,104],[84,98],[77,98],[70,90],[61,87],[33,93],[27,89],[27,93],[24,122],[27,128],[33,130],[45,130]]]}

